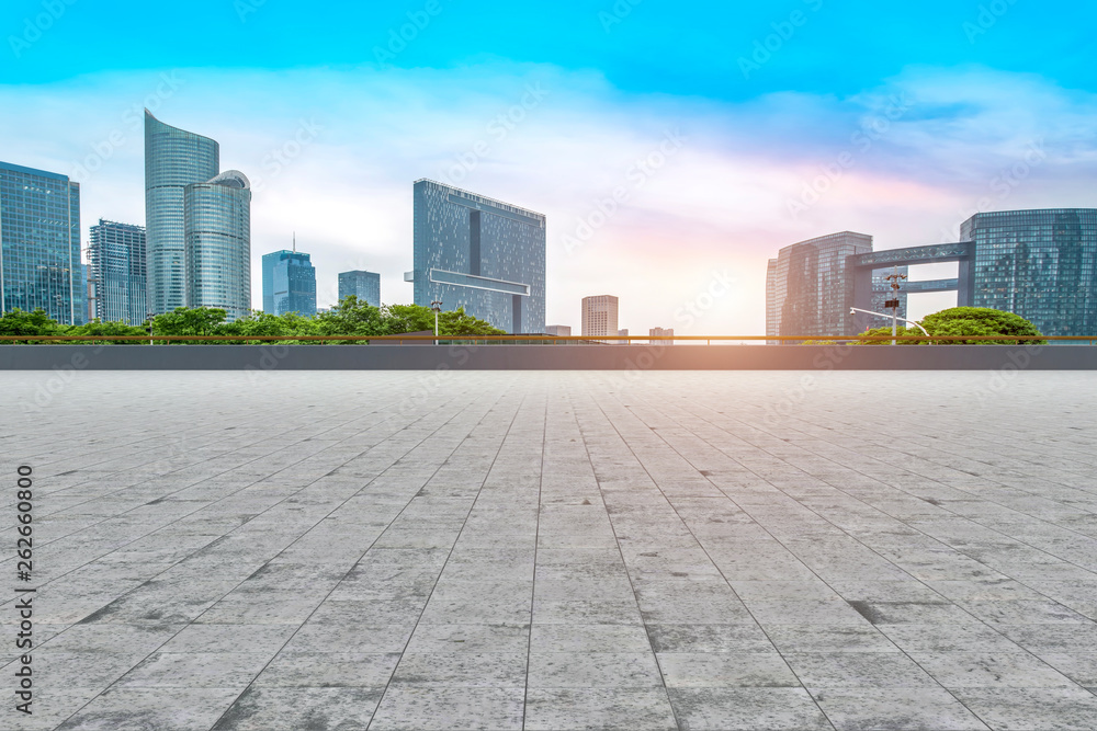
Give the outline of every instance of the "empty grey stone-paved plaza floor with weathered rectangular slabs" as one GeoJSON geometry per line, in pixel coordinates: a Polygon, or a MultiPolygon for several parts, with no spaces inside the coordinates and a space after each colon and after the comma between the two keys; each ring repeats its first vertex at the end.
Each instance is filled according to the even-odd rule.
{"type": "Polygon", "coordinates": [[[0,387],[0,729],[1097,728],[1092,373],[0,387]]]}

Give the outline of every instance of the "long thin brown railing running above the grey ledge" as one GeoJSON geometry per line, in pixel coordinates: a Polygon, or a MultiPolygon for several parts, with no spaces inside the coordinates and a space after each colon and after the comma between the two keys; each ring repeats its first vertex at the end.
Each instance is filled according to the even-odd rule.
{"type": "Polygon", "coordinates": [[[134,343],[134,344],[165,344],[172,343],[431,343],[440,344],[475,344],[475,343],[516,343],[523,345],[607,345],[607,344],[648,344],[657,346],[672,343],[688,343],[712,345],[713,343],[757,343],[779,341],[781,343],[808,343],[814,345],[841,345],[862,343],[891,343],[892,340],[898,342],[921,343],[926,340],[935,345],[948,345],[957,342],[987,342],[987,341],[1010,341],[1013,343],[1034,344],[1039,342],[1073,342],[1097,344],[1097,335],[851,335],[848,338],[819,338],[817,335],[659,335],[652,338],[648,335],[609,335],[599,338],[585,338],[583,335],[0,335],[0,343],[134,343]],[[623,343],[622,341],[627,341],[623,343]]]}

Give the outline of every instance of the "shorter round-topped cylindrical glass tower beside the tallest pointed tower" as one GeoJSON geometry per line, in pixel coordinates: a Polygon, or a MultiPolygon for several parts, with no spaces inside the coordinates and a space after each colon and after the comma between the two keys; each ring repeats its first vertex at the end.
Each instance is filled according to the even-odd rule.
{"type": "MultiPolygon", "coordinates": [[[[229,170],[183,193],[184,306],[251,311],[251,183],[229,170]]],[[[314,305],[315,307],[315,305],[314,305]]]]}

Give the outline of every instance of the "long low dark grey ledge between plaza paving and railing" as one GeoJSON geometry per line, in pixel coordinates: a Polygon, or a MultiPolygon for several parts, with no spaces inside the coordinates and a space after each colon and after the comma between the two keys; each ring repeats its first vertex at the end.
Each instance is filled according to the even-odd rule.
{"type": "Polygon", "coordinates": [[[0,345],[0,370],[1093,370],[1092,345],[0,345]]]}

